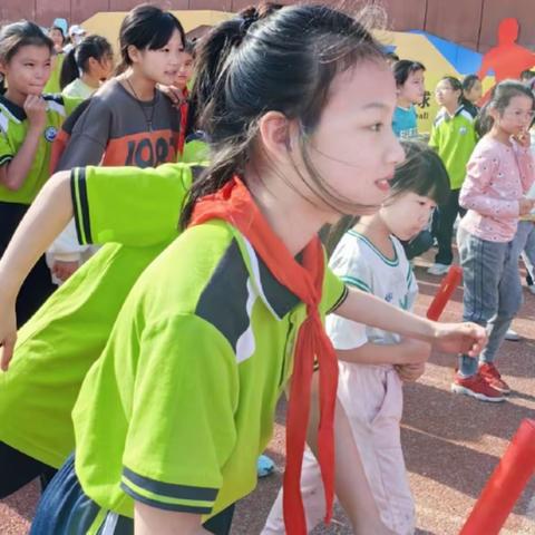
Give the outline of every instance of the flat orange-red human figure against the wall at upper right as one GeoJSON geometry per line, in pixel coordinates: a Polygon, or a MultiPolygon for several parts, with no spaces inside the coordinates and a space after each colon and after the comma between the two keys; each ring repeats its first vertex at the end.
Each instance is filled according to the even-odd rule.
{"type": "MultiPolygon", "coordinates": [[[[498,26],[498,45],[493,47],[483,57],[481,67],[477,76],[484,79],[489,70],[494,70],[496,84],[507,78],[521,77],[523,70],[535,65],[535,54],[516,43],[518,39],[518,21],[504,19],[498,26]]],[[[488,99],[489,91],[481,98],[488,99]]]]}

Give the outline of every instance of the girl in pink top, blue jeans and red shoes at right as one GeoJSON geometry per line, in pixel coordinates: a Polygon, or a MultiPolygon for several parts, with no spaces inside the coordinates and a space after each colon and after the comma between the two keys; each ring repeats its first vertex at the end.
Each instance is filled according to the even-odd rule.
{"type": "Polygon", "coordinates": [[[494,90],[481,125],[488,128],[467,165],[459,204],[468,213],[457,241],[464,272],[464,319],[487,327],[488,343],[479,360],[461,354],[451,385],[457,393],[481,401],[504,401],[509,393],[494,361],[522,304],[518,218],[533,201],[525,197],[534,182],[528,128],[534,97],[524,85],[505,80],[494,90]]]}

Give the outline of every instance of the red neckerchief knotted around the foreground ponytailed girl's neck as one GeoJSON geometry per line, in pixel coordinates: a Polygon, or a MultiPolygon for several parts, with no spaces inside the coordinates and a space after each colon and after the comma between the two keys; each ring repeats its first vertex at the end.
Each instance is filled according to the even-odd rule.
{"type": "Polygon", "coordinates": [[[254,203],[243,182],[234,176],[217,193],[201,198],[193,211],[191,225],[208,220],[224,220],[237,228],[265,262],[272,275],[307,305],[294,352],[293,377],[288,407],[286,470],[284,473],[284,524],[289,535],[307,534],[301,498],[301,468],[310,411],[310,391],[314,358],[320,367],[319,464],[323,479],[327,515],[332,516],[334,496],[334,405],[338,362],[325,334],[319,304],[323,284],[324,256],[318,237],[304,249],[302,265],[275,235],[254,203]]]}

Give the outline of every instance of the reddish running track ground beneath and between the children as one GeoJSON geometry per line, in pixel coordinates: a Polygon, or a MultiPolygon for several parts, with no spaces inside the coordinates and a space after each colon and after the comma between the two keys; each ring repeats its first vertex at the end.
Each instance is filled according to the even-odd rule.
{"type": "MultiPolygon", "coordinates": [[[[417,312],[424,314],[439,281],[425,273],[421,265],[428,264],[424,260],[419,265],[416,270],[420,284],[417,312]]],[[[439,353],[431,357],[425,376],[416,385],[406,387],[402,440],[417,502],[419,535],[458,534],[522,419],[535,419],[535,296],[527,291],[524,295],[526,302],[514,322],[523,339],[505,342],[498,362],[514,391],[505,403],[483,403],[451,395],[449,383],[455,359],[439,353]]],[[[459,290],[442,320],[458,321],[460,315],[459,290]]],[[[281,403],[275,436],[268,450],[280,468],[274,476],[261,480],[255,493],[240,503],[233,535],[259,534],[276,495],[284,464],[283,415],[284,403],[281,403]]],[[[32,484],[0,502],[0,534],[27,533],[37,498],[37,485],[32,484]]],[[[340,509],[330,527],[314,531],[315,535],[350,533],[340,509]]],[[[535,535],[533,478],[502,534],[535,535]]]]}

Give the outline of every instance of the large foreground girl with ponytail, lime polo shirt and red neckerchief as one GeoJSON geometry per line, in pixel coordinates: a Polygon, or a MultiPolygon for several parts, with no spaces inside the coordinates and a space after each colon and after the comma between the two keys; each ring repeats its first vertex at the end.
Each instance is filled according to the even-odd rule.
{"type": "MultiPolygon", "coordinates": [[[[182,234],[137,280],[84,380],[72,412],[76,453],[47,488],[35,534],[227,534],[233,504],[255,486],[256,458],[292,377],[284,508],[286,532],[301,535],[314,362],[321,426],[310,436],[318,439],[327,519],[334,476],[342,475],[333,440],[338,363],[323,315],[335,309],[445,351],[476,353],[485,340],[483,329],[419,319],[330,272],[319,228],[341,213],[374,212],[403,158],[390,127],[395,80],[381,47],[352,17],[324,6],[259,14],[223,22],[202,46],[208,61],[200,72],[208,75],[196,79],[197,103],[212,163],[182,210],[182,234]]],[[[93,197],[87,178],[74,187],[93,197]]],[[[51,194],[66,183],[65,174],[51,179],[48,206],[57,207],[51,194]]],[[[123,197],[132,211],[135,184],[111,210],[116,224],[123,197]]],[[[165,206],[176,207],[176,193],[167,194],[165,206]]],[[[87,208],[88,195],[76,197],[87,208]]],[[[145,191],[142,205],[148,198],[145,191]]],[[[27,218],[28,232],[41,208],[27,218]]],[[[134,233],[146,232],[150,218],[139,220],[139,212],[129,220],[134,233]]],[[[89,230],[90,221],[86,211],[80,223],[89,230]]],[[[86,235],[110,236],[109,226],[91,230],[86,235]]],[[[28,251],[23,242],[21,234],[28,251]]],[[[10,264],[18,254],[0,270],[20,269],[10,264]]],[[[337,418],[343,421],[341,409],[337,418]]],[[[349,458],[347,477],[362,478],[358,453],[349,458]]],[[[352,499],[372,504],[369,492],[352,499]]],[[[367,510],[356,533],[389,534],[377,509],[367,510]]]]}

